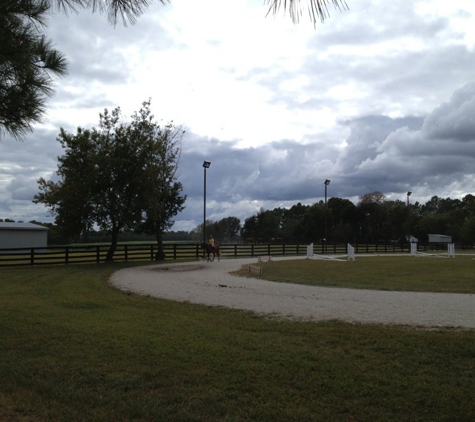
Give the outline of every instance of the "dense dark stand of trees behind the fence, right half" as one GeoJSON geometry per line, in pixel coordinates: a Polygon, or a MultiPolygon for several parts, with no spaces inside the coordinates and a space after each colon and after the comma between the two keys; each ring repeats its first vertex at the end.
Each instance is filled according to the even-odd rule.
{"type": "Polygon", "coordinates": [[[404,243],[409,235],[426,242],[428,234],[445,234],[457,242],[474,243],[475,196],[433,196],[425,204],[408,204],[389,200],[376,191],[362,195],[356,205],[348,199],[330,198],[326,206],[320,201],[261,210],[247,218],[241,230],[243,239],[286,243],[325,238],[328,243],[404,243]]]}

